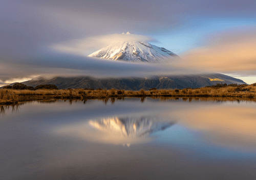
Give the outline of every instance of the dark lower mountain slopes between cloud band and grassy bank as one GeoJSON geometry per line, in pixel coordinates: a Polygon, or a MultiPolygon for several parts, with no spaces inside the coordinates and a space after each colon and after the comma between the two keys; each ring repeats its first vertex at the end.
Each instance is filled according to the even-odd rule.
{"type": "Polygon", "coordinates": [[[109,78],[96,79],[92,77],[76,77],[53,79],[37,79],[23,82],[27,86],[37,86],[44,84],[56,85],[59,89],[67,88],[93,88],[93,89],[124,89],[124,90],[148,90],[157,89],[183,89],[200,88],[216,85],[217,83],[226,84],[246,84],[242,80],[232,78],[224,74],[202,74],[202,75],[173,75],[173,76],[154,76],[152,78],[109,78]]]}

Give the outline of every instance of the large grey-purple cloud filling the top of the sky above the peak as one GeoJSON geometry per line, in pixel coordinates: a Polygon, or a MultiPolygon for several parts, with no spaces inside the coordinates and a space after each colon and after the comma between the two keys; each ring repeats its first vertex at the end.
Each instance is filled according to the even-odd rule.
{"type": "MultiPolygon", "coordinates": [[[[187,30],[201,17],[252,17],[255,1],[39,1],[3,0],[0,53],[35,55],[60,41],[134,31],[165,34],[187,30]],[[196,19],[196,20],[195,20],[196,19]]],[[[201,23],[201,22],[200,22],[201,23]]]]}

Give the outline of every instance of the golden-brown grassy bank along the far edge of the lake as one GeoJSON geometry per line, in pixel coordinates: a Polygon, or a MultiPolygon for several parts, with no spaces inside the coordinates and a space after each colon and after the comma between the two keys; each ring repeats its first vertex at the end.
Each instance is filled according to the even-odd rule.
{"type": "Polygon", "coordinates": [[[217,85],[196,89],[161,89],[150,91],[103,90],[103,89],[61,89],[61,90],[13,90],[0,89],[0,105],[15,105],[18,102],[49,99],[108,99],[115,97],[232,97],[255,101],[255,85],[217,85]]]}

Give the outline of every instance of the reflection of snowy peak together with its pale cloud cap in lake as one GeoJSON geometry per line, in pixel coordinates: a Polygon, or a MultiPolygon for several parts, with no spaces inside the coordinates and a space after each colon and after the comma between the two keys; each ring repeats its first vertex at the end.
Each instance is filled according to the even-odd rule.
{"type": "Polygon", "coordinates": [[[122,144],[128,147],[135,143],[152,140],[150,134],[163,131],[174,122],[163,122],[156,116],[109,117],[90,120],[89,123],[59,127],[57,132],[86,140],[108,144],[122,144]]]}

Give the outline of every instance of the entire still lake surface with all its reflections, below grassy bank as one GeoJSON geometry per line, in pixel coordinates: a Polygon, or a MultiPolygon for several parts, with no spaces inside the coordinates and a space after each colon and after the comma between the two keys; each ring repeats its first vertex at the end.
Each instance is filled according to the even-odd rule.
{"type": "Polygon", "coordinates": [[[31,102],[0,116],[0,179],[256,179],[256,103],[31,102]]]}

